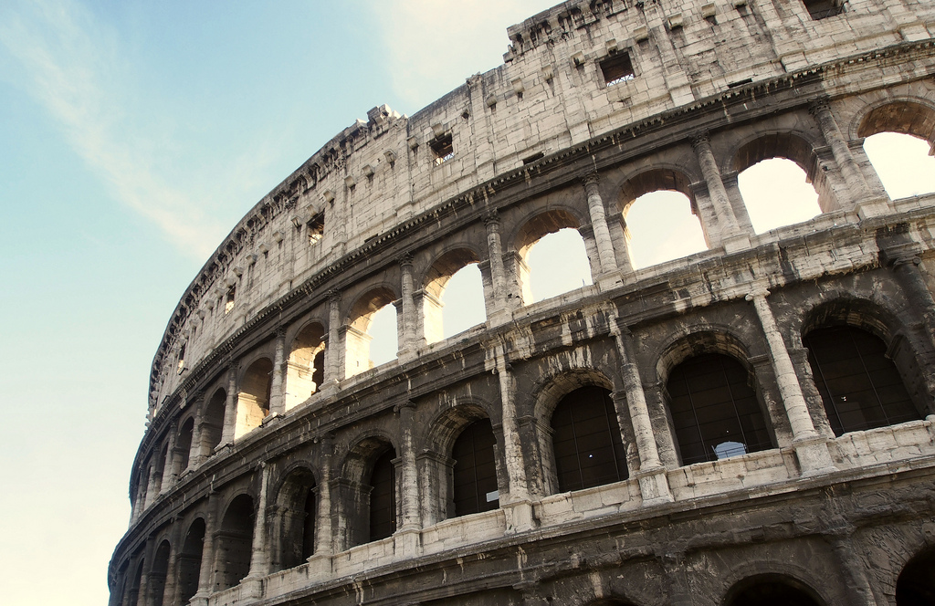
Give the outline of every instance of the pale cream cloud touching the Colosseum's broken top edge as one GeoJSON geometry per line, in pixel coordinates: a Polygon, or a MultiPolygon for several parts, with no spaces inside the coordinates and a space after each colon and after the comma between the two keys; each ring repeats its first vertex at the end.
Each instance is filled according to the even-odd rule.
{"type": "Polygon", "coordinates": [[[396,94],[422,107],[471,74],[492,69],[507,50],[507,27],[556,0],[390,0],[374,2],[396,94]]]}

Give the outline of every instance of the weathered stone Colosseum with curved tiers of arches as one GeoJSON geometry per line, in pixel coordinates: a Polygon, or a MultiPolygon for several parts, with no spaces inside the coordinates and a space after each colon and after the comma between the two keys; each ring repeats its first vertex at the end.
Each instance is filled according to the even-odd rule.
{"type": "Polygon", "coordinates": [[[111,606],[935,603],[935,195],[863,147],[935,142],[935,5],[572,0],[508,33],[194,277],[111,606]],[[770,158],[820,212],[757,233],[739,174],[770,158]],[[639,267],[660,190],[707,248],[639,267]],[[562,229],[592,283],[534,302],[562,229]],[[485,319],[450,336],[468,266],[485,319]]]}

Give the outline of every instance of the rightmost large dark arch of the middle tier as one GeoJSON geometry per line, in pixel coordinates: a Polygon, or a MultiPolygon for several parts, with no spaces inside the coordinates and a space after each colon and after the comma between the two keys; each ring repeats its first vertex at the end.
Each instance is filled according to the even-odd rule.
{"type": "Polygon", "coordinates": [[[836,436],[920,420],[931,411],[918,352],[899,325],[884,307],[854,296],[803,314],[796,337],[808,352],[805,389],[822,402],[836,436]]]}

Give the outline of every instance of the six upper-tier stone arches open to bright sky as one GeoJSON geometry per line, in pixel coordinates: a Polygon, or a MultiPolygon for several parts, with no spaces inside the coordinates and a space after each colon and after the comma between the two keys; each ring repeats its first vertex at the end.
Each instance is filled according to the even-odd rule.
{"type": "MultiPolygon", "coordinates": [[[[935,140],[935,109],[924,95],[871,102],[856,112],[848,108],[844,113],[850,123],[841,128],[846,133],[841,140],[829,140],[842,136],[835,111],[822,104],[812,109],[814,120],[793,113],[762,128],[738,127],[712,135],[694,151],[685,143],[652,162],[626,166],[619,177],[608,175],[598,199],[601,212],[609,213],[612,269],[627,272],[717,248],[732,229],[759,234],[821,212],[849,209],[861,197],[885,197],[884,187],[894,199],[935,191],[935,158],[927,153],[935,140]],[[845,147],[846,153],[836,151],[845,147]],[[710,166],[704,160],[709,150],[710,166]],[[878,176],[873,167],[887,163],[903,171],[892,179],[887,171],[878,176]],[[777,165],[787,169],[777,179],[755,176],[777,165]],[[759,193],[755,181],[766,183],[759,193]],[[808,195],[792,193],[793,181],[808,195]],[[757,202],[764,190],[771,197],[757,202]]],[[[346,362],[341,378],[482,324],[499,307],[511,309],[580,288],[611,269],[603,265],[607,259],[599,258],[601,235],[593,210],[571,199],[583,196],[566,191],[553,197],[545,205],[550,211],[504,224],[502,248],[496,252],[489,247],[490,230],[466,234],[461,245],[415,264],[412,294],[391,281],[358,292],[350,305],[342,305],[346,362]],[[490,267],[500,255],[506,283],[497,281],[496,267],[490,267]],[[411,311],[404,309],[409,296],[411,311]]]]}

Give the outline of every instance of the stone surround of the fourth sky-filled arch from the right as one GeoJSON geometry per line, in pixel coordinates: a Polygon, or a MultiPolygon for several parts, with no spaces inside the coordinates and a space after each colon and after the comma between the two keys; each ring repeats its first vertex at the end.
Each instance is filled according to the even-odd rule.
{"type": "MultiPolygon", "coordinates": [[[[528,265],[529,252],[532,247],[542,238],[562,229],[573,229],[581,235],[582,226],[585,224],[589,224],[589,219],[581,215],[577,209],[555,205],[527,217],[516,228],[512,238],[513,250],[516,251],[516,256],[512,259],[511,267],[507,267],[507,271],[512,274],[512,280],[519,286],[524,305],[528,305],[534,300],[530,283],[530,267],[528,265]]],[[[591,274],[589,278],[593,279],[600,271],[600,267],[595,265],[599,263],[597,244],[591,242],[589,245],[583,237],[582,241],[584,242],[585,254],[589,258],[591,274]],[[594,250],[591,251],[591,249],[594,250]]]]}

